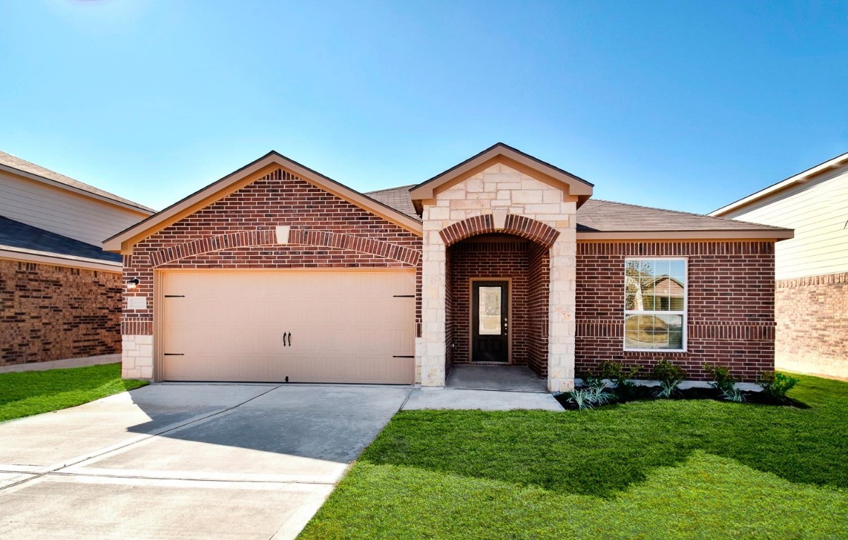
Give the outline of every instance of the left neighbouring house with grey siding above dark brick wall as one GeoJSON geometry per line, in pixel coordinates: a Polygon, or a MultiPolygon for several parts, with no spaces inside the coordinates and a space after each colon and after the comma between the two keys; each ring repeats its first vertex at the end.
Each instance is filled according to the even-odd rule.
{"type": "Polygon", "coordinates": [[[120,352],[120,256],[103,238],[153,214],[0,152],[0,365],[120,352]]]}

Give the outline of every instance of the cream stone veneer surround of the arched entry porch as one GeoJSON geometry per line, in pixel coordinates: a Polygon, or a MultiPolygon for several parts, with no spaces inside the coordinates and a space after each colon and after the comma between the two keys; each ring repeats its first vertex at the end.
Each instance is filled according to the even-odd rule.
{"type": "Polygon", "coordinates": [[[423,204],[422,334],[416,343],[421,383],[441,387],[445,381],[447,253],[440,233],[476,216],[494,219],[494,213],[523,216],[559,233],[550,248],[548,387],[553,392],[570,389],[574,384],[577,203],[565,200],[560,189],[506,164],[493,164],[423,204]]]}

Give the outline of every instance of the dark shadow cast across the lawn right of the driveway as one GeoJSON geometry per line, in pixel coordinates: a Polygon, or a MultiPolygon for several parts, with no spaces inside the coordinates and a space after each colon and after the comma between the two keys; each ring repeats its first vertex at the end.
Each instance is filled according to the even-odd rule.
{"type": "Polygon", "coordinates": [[[404,411],[362,459],[609,497],[695,450],[790,482],[848,487],[848,384],[803,377],[810,409],[710,400],[588,412],[404,411]]]}

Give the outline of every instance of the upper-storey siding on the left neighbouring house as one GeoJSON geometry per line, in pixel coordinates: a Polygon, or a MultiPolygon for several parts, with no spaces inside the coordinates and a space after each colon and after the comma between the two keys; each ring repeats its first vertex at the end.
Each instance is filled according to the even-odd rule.
{"type": "Polygon", "coordinates": [[[96,246],[146,217],[4,171],[0,215],[96,246]]]}

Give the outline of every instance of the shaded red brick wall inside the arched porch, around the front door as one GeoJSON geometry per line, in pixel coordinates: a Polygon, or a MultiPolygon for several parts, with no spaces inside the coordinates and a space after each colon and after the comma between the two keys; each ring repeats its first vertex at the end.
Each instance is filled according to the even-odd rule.
{"type": "Polygon", "coordinates": [[[511,363],[547,376],[547,331],[539,326],[548,320],[548,249],[517,237],[483,235],[448,248],[447,260],[446,367],[471,362],[471,279],[510,278],[511,363]]]}

